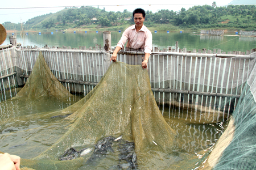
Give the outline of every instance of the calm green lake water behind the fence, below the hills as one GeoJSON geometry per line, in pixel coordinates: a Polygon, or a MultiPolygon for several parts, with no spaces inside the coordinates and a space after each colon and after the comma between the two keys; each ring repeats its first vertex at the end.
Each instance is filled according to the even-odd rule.
{"type": "MultiPolygon", "coordinates": [[[[241,51],[246,52],[256,47],[256,37],[240,37],[236,36],[235,32],[228,33],[229,35],[224,36],[200,36],[199,32],[170,32],[158,31],[152,32],[153,46],[159,47],[160,49],[168,48],[169,46],[175,47],[175,42],[179,41],[179,48],[187,48],[187,50],[193,49],[221,49],[222,52],[241,51]]],[[[112,46],[117,45],[117,42],[122,36],[122,32],[111,32],[112,35],[112,46]]],[[[2,45],[10,44],[9,36],[3,42],[2,45]]],[[[17,42],[22,43],[23,46],[37,45],[38,47],[48,46],[71,46],[71,48],[79,48],[79,46],[95,46],[95,44],[103,45],[102,32],[53,32],[39,33],[28,32],[28,35],[17,36],[17,42]]]]}

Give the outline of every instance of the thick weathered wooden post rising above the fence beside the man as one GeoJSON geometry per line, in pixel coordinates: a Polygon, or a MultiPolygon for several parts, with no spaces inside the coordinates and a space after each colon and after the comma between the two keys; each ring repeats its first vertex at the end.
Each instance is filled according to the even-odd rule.
{"type": "MultiPolygon", "coordinates": [[[[104,44],[104,47],[103,47],[104,52],[108,52],[111,50],[111,32],[110,31],[103,32],[103,44],[104,44]]],[[[111,61],[110,61],[111,54],[104,53],[103,56],[104,56],[104,74],[105,74],[106,70],[108,70],[111,64],[111,61]]]]}

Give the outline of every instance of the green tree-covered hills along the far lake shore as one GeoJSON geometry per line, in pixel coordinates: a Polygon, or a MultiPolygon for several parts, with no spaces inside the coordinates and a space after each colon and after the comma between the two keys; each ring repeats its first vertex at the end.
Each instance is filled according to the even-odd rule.
{"type": "MultiPolygon", "coordinates": [[[[159,10],[153,13],[146,11],[146,22],[148,28],[158,28],[158,30],[172,29],[242,29],[253,31],[256,29],[256,7],[254,5],[228,7],[193,6],[188,10],[181,8],[180,11],[159,10]]],[[[118,31],[133,24],[131,12],[105,11],[90,6],[80,8],[65,8],[54,14],[36,16],[27,20],[27,22],[14,24],[10,22],[3,23],[7,29],[21,30],[64,30],[64,29],[89,29],[118,31]]]]}

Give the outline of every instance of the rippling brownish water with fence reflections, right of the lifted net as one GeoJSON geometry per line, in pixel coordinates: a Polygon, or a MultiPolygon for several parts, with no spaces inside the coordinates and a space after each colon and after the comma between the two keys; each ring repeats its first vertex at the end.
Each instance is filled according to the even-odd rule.
{"type": "Polygon", "coordinates": [[[222,123],[220,125],[213,118],[216,114],[210,114],[209,119],[203,119],[199,111],[163,106],[159,108],[162,108],[167,124],[176,131],[177,149],[181,152],[195,154],[205,150],[222,134],[222,123]]]}

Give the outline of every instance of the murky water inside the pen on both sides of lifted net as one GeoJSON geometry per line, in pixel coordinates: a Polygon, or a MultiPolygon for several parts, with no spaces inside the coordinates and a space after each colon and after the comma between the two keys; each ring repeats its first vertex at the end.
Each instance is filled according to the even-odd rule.
{"type": "MultiPolygon", "coordinates": [[[[63,136],[68,130],[68,125],[71,124],[63,117],[51,117],[60,115],[62,109],[79,99],[79,97],[69,101],[42,99],[40,103],[24,103],[16,99],[2,101],[0,103],[0,151],[19,155],[25,159],[39,155],[63,136]]],[[[175,145],[171,148],[170,155],[152,152],[150,149],[147,154],[166,160],[167,165],[172,162],[170,169],[195,168],[198,162],[204,161],[204,158],[202,159],[204,150],[214,145],[220,137],[222,126],[216,121],[212,122],[214,118],[200,121],[200,112],[163,106],[159,108],[164,120],[177,133],[175,145]]],[[[88,154],[88,158],[90,155],[92,154],[88,154]]],[[[112,167],[118,163],[115,159],[117,156],[117,152],[108,155],[108,158],[99,166],[102,169],[112,167]]],[[[162,165],[162,168],[165,166],[162,165]]],[[[87,165],[84,165],[80,169],[86,169],[86,167],[87,165]]]]}

